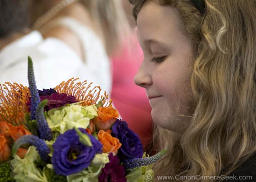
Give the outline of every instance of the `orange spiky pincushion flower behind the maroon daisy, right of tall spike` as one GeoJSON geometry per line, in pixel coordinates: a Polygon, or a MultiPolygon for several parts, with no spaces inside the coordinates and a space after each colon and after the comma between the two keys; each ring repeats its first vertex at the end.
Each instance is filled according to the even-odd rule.
{"type": "Polygon", "coordinates": [[[101,101],[104,107],[111,105],[112,101],[109,100],[108,95],[104,92],[104,95],[101,95],[101,87],[94,86],[92,89],[89,89],[92,85],[92,82],[87,85],[87,80],[83,82],[77,82],[79,78],[70,78],[68,81],[62,81],[57,85],[54,90],[61,94],[65,93],[68,96],[74,96],[77,101],[81,102],[82,106],[89,106],[92,104],[98,104],[101,101]]]}

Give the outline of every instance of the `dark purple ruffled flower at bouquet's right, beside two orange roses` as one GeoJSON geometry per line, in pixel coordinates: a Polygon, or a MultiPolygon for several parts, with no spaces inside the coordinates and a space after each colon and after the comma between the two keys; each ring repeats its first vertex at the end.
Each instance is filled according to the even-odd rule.
{"type": "Polygon", "coordinates": [[[111,134],[119,139],[122,144],[118,151],[118,156],[121,160],[141,158],[143,156],[143,146],[138,134],[131,130],[125,121],[117,119],[112,126],[111,134]]]}

